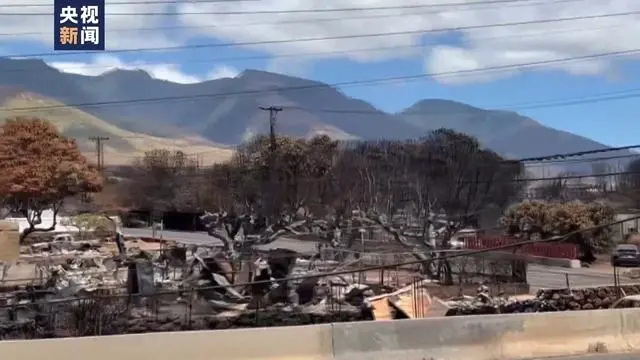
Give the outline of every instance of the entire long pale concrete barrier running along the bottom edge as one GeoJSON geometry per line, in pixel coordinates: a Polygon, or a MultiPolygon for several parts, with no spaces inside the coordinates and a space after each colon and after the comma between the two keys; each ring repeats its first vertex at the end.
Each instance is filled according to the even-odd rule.
{"type": "Polygon", "coordinates": [[[640,309],[3,341],[7,359],[519,360],[640,351],[640,309]]]}

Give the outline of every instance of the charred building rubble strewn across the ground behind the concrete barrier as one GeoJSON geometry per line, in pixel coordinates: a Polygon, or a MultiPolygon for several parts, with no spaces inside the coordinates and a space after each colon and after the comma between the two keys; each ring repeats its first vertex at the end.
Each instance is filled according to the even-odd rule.
{"type": "MultiPolygon", "coordinates": [[[[2,283],[0,338],[456,315],[465,311],[452,309],[478,306],[468,299],[456,303],[452,292],[475,291],[479,279],[526,285],[511,260],[496,272],[497,259],[488,266],[479,258],[461,261],[464,257],[447,263],[451,276],[445,280],[457,279],[459,286],[445,284],[416,262],[423,259],[416,254],[425,251],[406,249],[396,241],[398,234],[369,241],[368,248],[361,242],[358,249],[348,236],[362,236],[357,228],[345,226],[341,234],[326,223],[289,221],[255,231],[248,218],[206,214],[205,219],[211,224],[210,244],[124,241],[119,233],[115,239],[21,246],[20,261],[10,272],[28,268],[30,275],[2,283]],[[297,239],[295,248],[291,242],[279,246],[285,234],[297,239]],[[397,265],[403,262],[413,264],[397,265]]],[[[380,224],[371,227],[389,233],[380,224]]],[[[528,292],[528,287],[516,290],[528,292]]]]}

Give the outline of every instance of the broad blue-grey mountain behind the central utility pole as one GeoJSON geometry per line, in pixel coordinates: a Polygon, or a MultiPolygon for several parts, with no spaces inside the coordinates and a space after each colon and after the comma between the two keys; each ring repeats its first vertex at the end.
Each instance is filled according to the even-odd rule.
{"type": "Polygon", "coordinates": [[[402,138],[416,130],[410,124],[396,123],[393,116],[364,101],[348,98],[326,84],[264,71],[247,70],[234,79],[191,85],[154,80],[139,71],[113,71],[95,78],[86,77],[80,83],[88,89],[85,94],[91,94],[98,102],[140,99],[140,94],[182,98],[85,111],[123,127],[128,126],[128,122],[153,121],[229,145],[267,131],[268,114],[260,107],[271,105],[288,108],[278,114],[278,131],[287,135],[328,133],[338,138],[379,138],[384,134],[402,138]],[[110,91],[105,91],[105,84],[110,91]],[[283,88],[290,90],[278,90],[283,88]],[[314,109],[347,109],[366,114],[344,116],[314,109]]]}

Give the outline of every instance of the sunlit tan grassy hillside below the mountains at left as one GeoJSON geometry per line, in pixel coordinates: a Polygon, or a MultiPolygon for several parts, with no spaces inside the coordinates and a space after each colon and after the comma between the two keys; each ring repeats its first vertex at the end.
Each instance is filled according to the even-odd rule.
{"type": "Polygon", "coordinates": [[[232,153],[228,148],[199,137],[161,138],[123,130],[76,108],[66,107],[59,101],[18,89],[0,88],[0,122],[14,116],[50,121],[65,136],[75,138],[80,151],[90,160],[96,157],[95,143],[90,137],[108,137],[104,143],[105,165],[130,163],[145,151],[158,148],[200,153],[205,163],[226,160],[232,153]]]}

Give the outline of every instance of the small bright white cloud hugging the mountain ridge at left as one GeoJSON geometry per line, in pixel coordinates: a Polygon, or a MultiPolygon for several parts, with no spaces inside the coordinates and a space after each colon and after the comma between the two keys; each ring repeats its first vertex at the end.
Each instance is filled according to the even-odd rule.
{"type": "Polygon", "coordinates": [[[238,75],[238,70],[229,66],[216,66],[206,76],[185,74],[176,64],[151,64],[145,62],[124,63],[111,55],[99,55],[90,63],[84,62],[51,62],[54,68],[72,74],[98,76],[116,69],[144,70],[156,79],[167,80],[179,84],[193,84],[206,80],[230,78],[238,75]]]}

